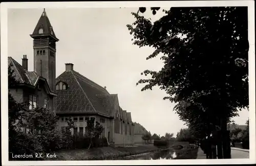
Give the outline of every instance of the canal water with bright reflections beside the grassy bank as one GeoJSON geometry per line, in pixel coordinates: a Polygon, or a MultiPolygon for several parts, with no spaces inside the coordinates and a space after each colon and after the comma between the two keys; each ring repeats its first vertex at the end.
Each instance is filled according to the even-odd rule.
{"type": "Polygon", "coordinates": [[[123,158],[124,160],[169,160],[175,159],[177,154],[175,150],[162,150],[158,152],[152,152],[144,155],[130,156],[123,158]]]}

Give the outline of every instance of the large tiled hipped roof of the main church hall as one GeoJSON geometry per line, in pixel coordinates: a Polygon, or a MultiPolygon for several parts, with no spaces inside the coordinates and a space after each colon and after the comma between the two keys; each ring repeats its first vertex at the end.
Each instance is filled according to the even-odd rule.
{"type": "Polygon", "coordinates": [[[67,90],[58,90],[56,113],[88,113],[113,117],[117,94],[75,72],[66,70],[57,79],[68,84],[67,90]]]}

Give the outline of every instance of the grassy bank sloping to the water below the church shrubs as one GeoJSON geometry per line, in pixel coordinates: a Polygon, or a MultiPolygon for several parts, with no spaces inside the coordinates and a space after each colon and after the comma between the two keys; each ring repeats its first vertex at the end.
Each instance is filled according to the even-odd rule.
{"type": "Polygon", "coordinates": [[[101,147],[93,149],[62,150],[55,152],[57,158],[52,160],[106,160],[122,158],[124,156],[136,155],[147,152],[154,152],[164,149],[153,145],[143,145],[137,147],[101,147]]]}

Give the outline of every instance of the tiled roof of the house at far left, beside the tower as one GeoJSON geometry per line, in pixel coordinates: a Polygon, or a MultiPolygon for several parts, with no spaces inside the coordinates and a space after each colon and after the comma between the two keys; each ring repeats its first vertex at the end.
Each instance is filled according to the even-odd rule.
{"type": "Polygon", "coordinates": [[[26,83],[35,86],[39,76],[35,72],[29,72],[12,57],[8,57],[8,66],[13,70],[13,76],[19,83],[26,83]]]}

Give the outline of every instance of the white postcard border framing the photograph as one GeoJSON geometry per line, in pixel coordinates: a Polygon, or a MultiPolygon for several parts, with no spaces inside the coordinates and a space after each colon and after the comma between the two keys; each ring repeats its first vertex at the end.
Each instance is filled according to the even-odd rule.
{"type": "Polygon", "coordinates": [[[173,2],[32,2],[1,3],[1,113],[2,113],[2,164],[3,165],[131,165],[131,164],[246,164],[255,159],[255,32],[254,1],[173,1],[173,2]],[[191,159],[191,160],[102,160],[102,161],[8,161],[8,84],[7,84],[7,9],[8,8],[111,8],[111,7],[206,7],[248,6],[249,32],[249,159],[191,159]]]}

